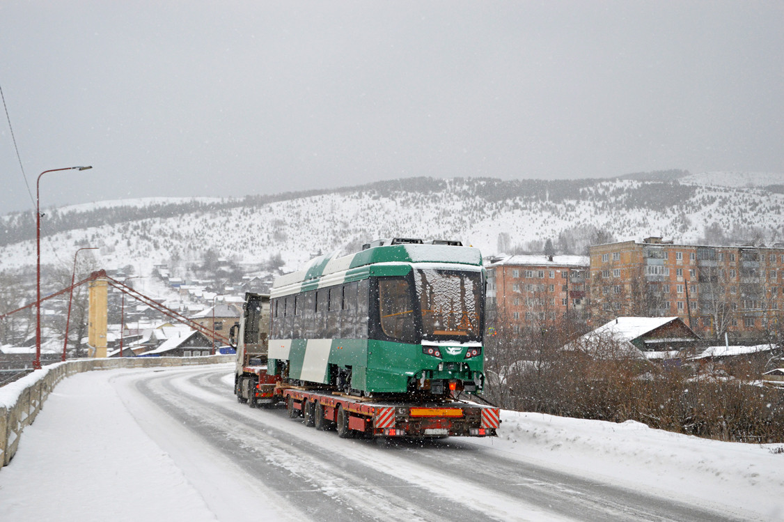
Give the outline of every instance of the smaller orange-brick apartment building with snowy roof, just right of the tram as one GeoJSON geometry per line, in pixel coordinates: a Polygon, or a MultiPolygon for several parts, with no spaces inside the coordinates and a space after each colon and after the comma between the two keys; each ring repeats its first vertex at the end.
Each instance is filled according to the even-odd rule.
{"type": "Polygon", "coordinates": [[[515,255],[486,268],[488,316],[512,333],[562,319],[586,320],[588,257],[515,255]]]}

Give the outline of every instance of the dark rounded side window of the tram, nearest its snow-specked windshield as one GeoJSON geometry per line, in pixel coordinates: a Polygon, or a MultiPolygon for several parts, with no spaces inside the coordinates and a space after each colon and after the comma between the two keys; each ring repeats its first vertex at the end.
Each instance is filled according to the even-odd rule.
{"type": "Polygon", "coordinates": [[[416,341],[411,284],[402,277],[379,279],[381,330],[396,341],[416,341]]]}

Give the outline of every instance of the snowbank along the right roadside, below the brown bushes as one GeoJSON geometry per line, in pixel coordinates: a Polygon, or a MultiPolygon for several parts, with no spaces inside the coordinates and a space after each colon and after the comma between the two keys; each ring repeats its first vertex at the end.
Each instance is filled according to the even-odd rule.
{"type": "Polygon", "coordinates": [[[517,411],[503,411],[501,418],[499,439],[471,442],[637,491],[784,520],[784,454],[773,453],[782,444],[706,440],[634,421],[517,411]]]}

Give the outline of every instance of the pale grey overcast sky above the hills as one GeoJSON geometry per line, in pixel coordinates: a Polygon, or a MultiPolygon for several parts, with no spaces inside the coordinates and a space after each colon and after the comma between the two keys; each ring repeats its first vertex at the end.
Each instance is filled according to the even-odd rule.
{"type": "MultiPolygon", "coordinates": [[[[784,172],[784,2],[0,2],[42,206],[784,172]]],[[[0,214],[32,208],[5,113],[0,214]]]]}

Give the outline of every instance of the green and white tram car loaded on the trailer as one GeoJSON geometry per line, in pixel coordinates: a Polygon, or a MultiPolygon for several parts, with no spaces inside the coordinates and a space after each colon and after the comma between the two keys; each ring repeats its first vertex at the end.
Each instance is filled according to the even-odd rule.
{"type": "Polygon", "coordinates": [[[480,251],[456,241],[316,257],[274,281],[267,373],[354,396],[479,392],[485,279],[480,251]]]}

